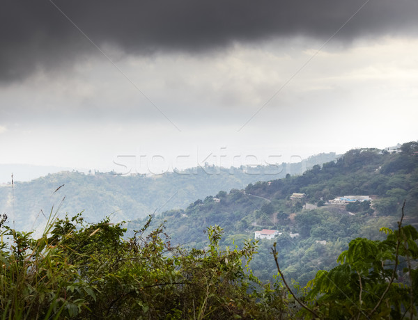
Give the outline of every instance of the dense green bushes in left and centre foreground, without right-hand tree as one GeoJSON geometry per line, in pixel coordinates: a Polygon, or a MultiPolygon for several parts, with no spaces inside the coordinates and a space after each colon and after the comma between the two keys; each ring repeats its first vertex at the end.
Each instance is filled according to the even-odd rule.
{"type": "Polygon", "coordinates": [[[222,228],[208,227],[208,248],[185,251],[162,226],[144,236],[148,226],[124,241],[121,225],[80,215],[54,221],[39,239],[3,225],[3,319],[290,317],[281,286],[263,287],[248,269],[254,241],[222,250],[222,228]]]}

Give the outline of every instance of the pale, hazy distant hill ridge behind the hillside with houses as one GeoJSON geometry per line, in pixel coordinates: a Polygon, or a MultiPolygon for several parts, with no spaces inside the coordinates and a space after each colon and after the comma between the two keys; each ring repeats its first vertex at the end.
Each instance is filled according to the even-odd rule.
{"type": "MultiPolygon", "coordinates": [[[[332,161],[337,157],[335,153],[318,154],[299,163],[275,166],[205,166],[153,177],[63,171],[30,182],[17,181],[13,189],[10,184],[3,184],[0,186],[0,213],[8,214],[9,223],[15,221],[15,227],[19,230],[31,230],[42,225],[52,207],[56,210],[60,204],[61,216],[65,212],[72,215],[84,210],[87,221],[96,222],[110,214],[112,221],[127,221],[142,218],[154,211],[185,208],[196,198],[215,195],[221,189],[242,189],[251,182],[277,179],[286,174],[300,175],[317,163],[332,161]]],[[[13,167],[15,181],[22,176],[23,171],[19,169],[13,167]]]]}

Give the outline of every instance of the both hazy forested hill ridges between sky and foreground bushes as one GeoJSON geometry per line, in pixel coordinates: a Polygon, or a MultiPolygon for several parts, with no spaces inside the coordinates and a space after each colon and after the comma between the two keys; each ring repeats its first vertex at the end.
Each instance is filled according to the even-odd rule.
{"type": "Polygon", "coordinates": [[[405,223],[418,224],[417,152],[418,143],[410,142],[343,156],[318,154],[301,163],[207,165],[153,177],[64,171],[0,187],[0,213],[17,230],[43,225],[52,207],[61,217],[84,211],[91,223],[110,215],[112,222],[130,221],[127,236],[154,214],[151,227],[164,223],[171,242],[187,248],[206,248],[210,225],[224,228],[222,245],[228,246],[254,238],[257,230],[277,230],[274,240],[261,241],[251,269],[271,280],[268,251],[277,241],[286,275],[304,285],[318,269],[334,266],[351,239],[381,239],[380,227],[395,227],[404,199],[405,223]],[[347,195],[372,201],[329,203],[347,195]]]}

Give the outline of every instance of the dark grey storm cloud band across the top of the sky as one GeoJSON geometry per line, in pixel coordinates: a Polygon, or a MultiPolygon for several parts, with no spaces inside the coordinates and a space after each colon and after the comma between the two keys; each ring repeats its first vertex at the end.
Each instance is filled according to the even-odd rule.
{"type": "MultiPolygon", "coordinates": [[[[202,53],[231,43],[305,35],[327,39],[364,0],[55,0],[97,45],[130,54],[202,53]]],[[[371,0],[335,40],[417,31],[417,0],[371,0]]],[[[6,0],[0,11],[0,81],[60,72],[98,50],[46,0],[6,0]]]]}

